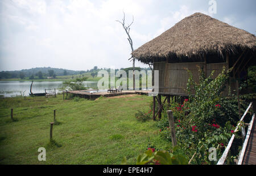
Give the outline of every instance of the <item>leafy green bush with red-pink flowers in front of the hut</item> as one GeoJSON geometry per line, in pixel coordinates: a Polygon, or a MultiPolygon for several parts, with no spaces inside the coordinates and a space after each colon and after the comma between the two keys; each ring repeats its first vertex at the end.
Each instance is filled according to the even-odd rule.
{"type": "MultiPolygon", "coordinates": [[[[204,73],[199,68],[198,84],[193,80],[191,72],[188,73],[189,98],[185,99],[183,104],[172,104],[170,107],[175,119],[177,143],[191,158],[191,164],[216,164],[217,161],[209,161],[208,149],[216,148],[217,158],[220,158],[231,135],[234,134],[234,125],[239,121],[237,100],[234,101],[236,98],[230,98],[230,94],[229,98],[221,96],[229,78],[229,70],[223,68],[221,74],[212,79],[213,72],[208,78],[204,78],[204,73]]],[[[166,111],[163,111],[162,117],[157,123],[162,129],[160,135],[171,141],[166,111]]],[[[234,143],[239,143],[237,135],[236,139],[234,143]]],[[[235,144],[231,152],[234,156],[238,154],[237,148],[235,144]]],[[[232,157],[230,155],[228,158],[229,162],[233,162],[230,159],[232,157]]]]}

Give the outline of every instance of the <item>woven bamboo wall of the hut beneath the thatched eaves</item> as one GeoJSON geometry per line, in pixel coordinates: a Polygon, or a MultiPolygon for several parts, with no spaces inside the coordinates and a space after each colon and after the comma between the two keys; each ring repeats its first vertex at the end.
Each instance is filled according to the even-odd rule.
{"type": "MultiPolygon", "coordinates": [[[[155,62],[154,70],[159,70],[159,93],[163,95],[180,95],[187,96],[185,89],[187,88],[188,73],[185,68],[192,72],[196,83],[199,83],[199,73],[196,65],[201,68],[205,67],[204,62],[190,62],[190,63],[166,63],[155,62]]],[[[214,70],[213,78],[216,78],[222,71],[223,66],[228,68],[227,63],[207,63],[207,76],[214,70]]],[[[225,94],[227,93],[225,90],[225,94]]],[[[192,90],[192,93],[194,91],[192,90]]]]}

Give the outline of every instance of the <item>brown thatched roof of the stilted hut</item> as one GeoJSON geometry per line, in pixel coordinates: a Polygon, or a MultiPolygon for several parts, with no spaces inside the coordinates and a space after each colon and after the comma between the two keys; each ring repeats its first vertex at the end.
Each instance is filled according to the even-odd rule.
{"type": "Polygon", "coordinates": [[[237,49],[255,50],[255,46],[256,37],[251,33],[208,15],[195,13],[131,54],[147,63],[152,62],[154,57],[177,59],[200,56],[201,53],[236,53],[237,49]]]}

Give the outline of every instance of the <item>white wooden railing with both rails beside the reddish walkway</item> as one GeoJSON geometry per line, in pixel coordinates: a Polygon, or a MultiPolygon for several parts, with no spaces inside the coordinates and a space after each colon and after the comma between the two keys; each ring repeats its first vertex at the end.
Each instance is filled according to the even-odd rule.
{"type": "MultiPolygon", "coordinates": [[[[234,133],[236,133],[236,132],[238,131],[238,127],[241,125],[241,122],[243,121],[243,118],[245,118],[245,115],[247,114],[247,112],[248,112],[249,109],[251,108],[251,105],[252,105],[252,104],[253,104],[253,102],[250,102],[250,105],[249,105],[248,108],[246,109],[245,113],[243,113],[243,116],[242,116],[241,119],[240,119],[240,123],[238,123],[238,125],[237,125],[237,127],[236,127],[236,130],[234,130],[234,133]]],[[[250,131],[249,131],[249,130],[250,130],[250,127],[253,126],[253,121],[254,121],[254,114],[253,114],[253,117],[252,117],[252,119],[251,119],[250,126],[249,126],[249,128],[248,128],[248,130],[247,130],[247,135],[248,135],[248,132],[250,132],[250,131]]],[[[245,129],[244,129],[243,127],[241,127],[241,131],[242,131],[242,137],[243,137],[243,139],[245,139],[245,129]]],[[[246,138],[247,138],[247,135],[246,135],[246,138]]],[[[249,134],[249,135],[250,135],[250,134],[249,134]]],[[[223,165],[223,164],[224,164],[224,162],[225,162],[225,160],[226,160],[226,157],[228,156],[230,147],[231,147],[231,145],[232,145],[232,143],[233,143],[234,137],[235,137],[235,135],[233,134],[233,135],[231,136],[231,138],[230,138],[230,140],[229,140],[229,143],[228,143],[228,145],[227,145],[227,147],[226,147],[224,153],[222,154],[220,160],[218,160],[217,165],[223,165]]],[[[248,137],[248,139],[249,139],[249,137],[248,137]]],[[[244,145],[247,145],[247,140],[244,140],[243,147],[244,147],[244,145]],[[246,143],[245,143],[245,142],[246,142],[246,143]]],[[[246,148],[246,147],[245,147],[245,148],[246,148]]],[[[244,151],[245,151],[245,149],[244,149],[244,151]]],[[[244,152],[243,152],[243,153],[244,153],[244,152]]],[[[241,152],[241,154],[242,154],[242,152],[241,152]]],[[[240,157],[241,157],[241,154],[240,154],[240,157]]],[[[238,162],[239,162],[239,161],[238,161],[238,162]]],[[[240,162],[241,162],[241,161],[240,161],[240,162]]]]}

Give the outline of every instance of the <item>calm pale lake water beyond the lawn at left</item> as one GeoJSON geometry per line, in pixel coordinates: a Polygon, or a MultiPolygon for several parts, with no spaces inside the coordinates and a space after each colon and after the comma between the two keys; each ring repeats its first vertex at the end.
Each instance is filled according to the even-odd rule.
{"type": "MultiPolygon", "coordinates": [[[[56,89],[56,93],[59,91],[59,86],[62,81],[40,81],[33,82],[33,93],[44,93],[44,89],[56,89]]],[[[85,87],[97,87],[96,81],[84,81],[85,87]]],[[[31,81],[0,81],[0,95],[5,97],[23,95],[28,96],[30,93],[31,81]]]]}

